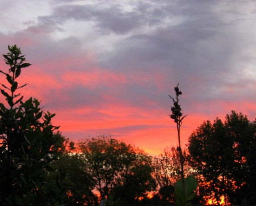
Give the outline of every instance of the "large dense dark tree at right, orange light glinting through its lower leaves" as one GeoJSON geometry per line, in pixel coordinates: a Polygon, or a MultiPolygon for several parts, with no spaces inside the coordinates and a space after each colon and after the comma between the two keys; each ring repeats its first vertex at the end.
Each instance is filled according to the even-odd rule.
{"type": "Polygon", "coordinates": [[[213,124],[206,121],[189,138],[188,149],[200,174],[202,196],[224,195],[232,204],[255,204],[248,196],[256,193],[255,122],[235,111],[224,123],[219,118],[213,124]]]}

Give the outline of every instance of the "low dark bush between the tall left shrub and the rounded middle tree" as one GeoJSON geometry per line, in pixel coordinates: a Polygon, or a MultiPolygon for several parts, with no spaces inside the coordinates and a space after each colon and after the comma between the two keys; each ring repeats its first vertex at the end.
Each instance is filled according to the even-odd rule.
{"type": "Polygon", "coordinates": [[[48,193],[59,191],[62,194],[61,202],[70,206],[97,205],[98,198],[92,192],[95,181],[86,172],[86,163],[79,154],[61,155],[53,169],[47,176],[48,193]],[[55,170],[58,170],[58,173],[55,170]]]}

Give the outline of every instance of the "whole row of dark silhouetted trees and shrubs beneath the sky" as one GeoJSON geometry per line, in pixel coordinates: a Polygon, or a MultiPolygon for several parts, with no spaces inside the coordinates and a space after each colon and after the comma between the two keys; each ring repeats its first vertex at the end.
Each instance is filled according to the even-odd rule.
{"type": "MultiPolygon", "coordinates": [[[[17,78],[30,64],[16,45],[8,49],[9,72],[0,71],[8,83],[0,90],[0,205],[174,204],[178,148],[151,157],[111,137],[69,141],[51,124],[54,114],[37,99],[23,100],[17,78]]],[[[255,204],[255,157],[256,121],[232,111],[224,122],[203,122],[183,151],[185,176],[200,183],[193,202],[255,204]]]]}

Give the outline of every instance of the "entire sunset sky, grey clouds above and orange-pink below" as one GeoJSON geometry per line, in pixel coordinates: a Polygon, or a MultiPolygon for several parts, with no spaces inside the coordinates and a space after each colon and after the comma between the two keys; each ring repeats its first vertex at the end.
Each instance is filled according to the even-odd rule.
{"type": "Polygon", "coordinates": [[[254,0],[0,0],[0,53],[21,47],[32,65],[20,92],[56,113],[63,136],[111,135],[157,155],[177,146],[177,83],[183,147],[231,110],[254,121],[255,22],[254,0]]]}

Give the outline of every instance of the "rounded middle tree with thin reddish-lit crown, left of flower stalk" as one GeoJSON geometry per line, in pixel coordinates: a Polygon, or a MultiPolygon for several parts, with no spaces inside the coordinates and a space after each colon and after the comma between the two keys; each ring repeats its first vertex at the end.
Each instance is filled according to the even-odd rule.
{"type": "Polygon", "coordinates": [[[113,195],[123,203],[134,203],[155,189],[151,157],[143,151],[109,137],[86,139],[79,148],[101,198],[113,195]]]}

